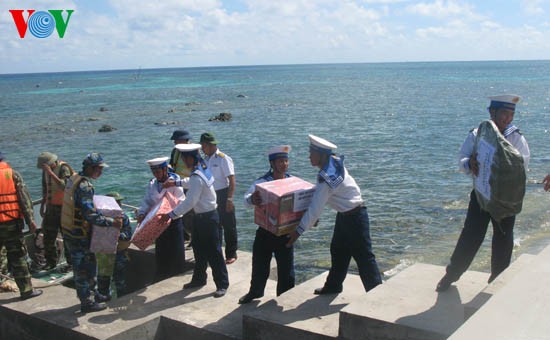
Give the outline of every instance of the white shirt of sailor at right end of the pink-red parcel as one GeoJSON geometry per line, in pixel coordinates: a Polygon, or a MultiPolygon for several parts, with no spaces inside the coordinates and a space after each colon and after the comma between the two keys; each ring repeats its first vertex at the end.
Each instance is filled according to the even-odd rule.
{"type": "Polygon", "coordinates": [[[216,191],[214,186],[208,186],[206,182],[196,174],[191,174],[190,177],[182,180],[187,190],[187,196],[184,199],[180,199],[180,203],[172,210],[168,215],[170,218],[175,216],[183,216],[191,209],[196,214],[202,214],[215,210],[216,204],[216,191]]]}

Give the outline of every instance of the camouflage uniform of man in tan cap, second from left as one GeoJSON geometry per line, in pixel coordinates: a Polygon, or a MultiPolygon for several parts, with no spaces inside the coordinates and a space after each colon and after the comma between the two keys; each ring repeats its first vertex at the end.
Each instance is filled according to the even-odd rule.
{"type": "MultiPolygon", "coordinates": [[[[60,166],[59,179],[63,182],[66,182],[69,177],[72,175],[72,170],[66,164],[57,165],[60,166]]],[[[61,205],[49,204],[50,198],[47,197],[47,183],[46,181],[51,181],[51,176],[47,176],[45,173],[42,175],[42,197],[45,201],[46,212],[44,214],[44,219],[42,220],[42,230],[44,233],[44,253],[46,256],[46,263],[48,267],[55,267],[57,265],[57,247],[56,240],[57,234],[61,230],[61,205]]],[[[67,250],[67,247],[64,247],[65,251],[65,260],[67,263],[71,263],[71,257],[67,250]]]]}

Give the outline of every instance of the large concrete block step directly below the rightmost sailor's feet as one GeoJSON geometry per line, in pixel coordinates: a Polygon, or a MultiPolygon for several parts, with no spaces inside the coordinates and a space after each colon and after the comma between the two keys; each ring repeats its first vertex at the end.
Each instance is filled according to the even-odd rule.
{"type": "Polygon", "coordinates": [[[340,312],[344,339],[445,339],[464,322],[464,304],[489,274],[469,271],[444,293],[435,292],[445,267],[417,263],[340,312]]]}

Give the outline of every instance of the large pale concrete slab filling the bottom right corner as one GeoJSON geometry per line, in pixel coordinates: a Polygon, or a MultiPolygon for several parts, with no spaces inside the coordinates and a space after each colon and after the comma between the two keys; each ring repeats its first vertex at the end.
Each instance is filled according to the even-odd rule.
{"type": "Polygon", "coordinates": [[[450,340],[550,339],[550,246],[495,293],[450,340]]]}

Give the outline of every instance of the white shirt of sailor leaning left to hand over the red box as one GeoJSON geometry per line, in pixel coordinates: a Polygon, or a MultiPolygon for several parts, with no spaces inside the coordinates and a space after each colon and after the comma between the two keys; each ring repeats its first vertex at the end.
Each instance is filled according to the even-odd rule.
{"type": "Polygon", "coordinates": [[[296,228],[298,234],[302,235],[319,219],[325,204],[338,212],[350,211],[363,204],[361,190],[348,169],[345,169],[344,181],[334,189],[325,182],[317,183],[309,208],[296,228]]]}

